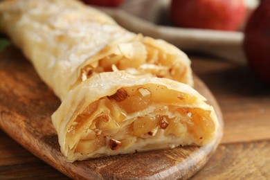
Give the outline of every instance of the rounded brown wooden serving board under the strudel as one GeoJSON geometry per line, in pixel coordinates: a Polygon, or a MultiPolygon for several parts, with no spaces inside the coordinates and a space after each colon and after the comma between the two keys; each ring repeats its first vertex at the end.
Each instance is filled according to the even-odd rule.
{"type": "Polygon", "coordinates": [[[219,133],[204,147],[140,152],[69,163],[60,152],[51,114],[60,100],[16,48],[0,54],[0,128],[31,153],[74,179],[187,179],[215,152],[223,134],[222,113],[195,76],[195,89],[215,107],[219,133]]]}

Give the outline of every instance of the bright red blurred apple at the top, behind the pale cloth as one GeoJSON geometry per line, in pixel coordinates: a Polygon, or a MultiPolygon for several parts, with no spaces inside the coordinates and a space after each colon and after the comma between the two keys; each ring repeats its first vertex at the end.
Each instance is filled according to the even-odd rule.
{"type": "Polygon", "coordinates": [[[244,21],[244,0],[172,0],[172,23],[186,28],[237,30],[244,21]]]}

